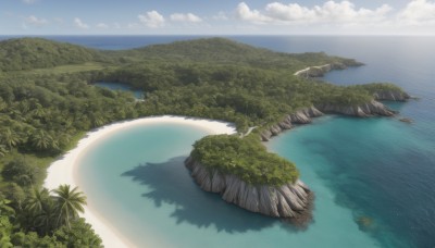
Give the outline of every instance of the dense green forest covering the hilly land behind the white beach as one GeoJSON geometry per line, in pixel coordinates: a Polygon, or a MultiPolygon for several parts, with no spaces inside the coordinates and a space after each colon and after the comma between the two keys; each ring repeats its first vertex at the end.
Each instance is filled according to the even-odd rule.
{"type": "MultiPolygon", "coordinates": [[[[391,84],[343,87],[294,75],[325,63],[361,65],[323,52],[281,53],[223,38],[124,51],[41,38],[0,41],[0,246],[101,246],[78,218],[86,203],[78,189],[64,185],[49,193],[42,188],[47,166],[92,128],[175,114],[233,122],[239,132],[250,126],[261,131],[300,108],[357,106],[372,100],[376,90],[400,90],[391,84]],[[95,87],[96,82],[127,84],[142,90],[145,100],[95,87]],[[60,201],[60,194],[71,201],[60,201]]],[[[295,165],[268,154],[258,137],[240,142],[245,152],[256,150],[258,159],[278,162],[279,170],[290,172],[284,181],[297,177],[295,165]]],[[[243,164],[249,163],[253,164],[243,164]]],[[[245,166],[238,171],[248,182],[284,182],[274,176],[278,169],[273,166],[271,174],[249,175],[245,166]]]]}

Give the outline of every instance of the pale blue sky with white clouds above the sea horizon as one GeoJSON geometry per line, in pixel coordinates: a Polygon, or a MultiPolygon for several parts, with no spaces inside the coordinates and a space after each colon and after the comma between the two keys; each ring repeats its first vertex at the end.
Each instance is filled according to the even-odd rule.
{"type": "Polygon", "coordinates": [[[435,0],[0,0],[0,35],[435,35],[435,0]]]}

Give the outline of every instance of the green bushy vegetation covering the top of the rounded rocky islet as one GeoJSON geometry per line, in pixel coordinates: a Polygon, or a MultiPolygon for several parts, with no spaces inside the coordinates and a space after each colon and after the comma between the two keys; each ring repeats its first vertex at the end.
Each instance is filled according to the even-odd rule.
{"type": "Polygon", "coordinates": [[[254,136],[207,136],[194,145],[191,158],[208,171],[231,174],[251,185],[282,186],[295,183],[295,164],[266,151],[254,136]]]}

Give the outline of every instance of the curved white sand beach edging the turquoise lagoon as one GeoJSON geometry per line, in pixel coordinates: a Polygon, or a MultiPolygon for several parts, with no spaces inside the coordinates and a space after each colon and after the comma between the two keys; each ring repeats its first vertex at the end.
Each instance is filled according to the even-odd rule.
{"type": "MultiPolygon", "coordinates": [[[[61,184],[69,184],[72,187],[79,187],[79,164],[77,161],[84,152],[86,152],[94,145],[98,144],[99,140],[122,129],[127,129],[138,125],[159,123],[191,125],[204,129],[209,134],[236,133],[235,126],[231,123],[174,115],[148,116],[132,121],[115,122],[86,133],[85,137],[78,141],[74,149],[67,151],[61,156],[59,160],[51,163],[47,169],[47,177],[44,182],[44,187],[48,188],[49,190],[57,188],[61,184]]],[[[80,190],[80,188],[78,189],[80,190]]],[[[100,236],[104,247],[135,247],[133,244],[129,244],[128,239],[124,237],[114,226],[104,220],[104,218],[101,216],[97,210],[92,209],[91,206],[85,206],[84,209],[85,212],[79,215],[92,226],[96,234],[100,236]]]]}

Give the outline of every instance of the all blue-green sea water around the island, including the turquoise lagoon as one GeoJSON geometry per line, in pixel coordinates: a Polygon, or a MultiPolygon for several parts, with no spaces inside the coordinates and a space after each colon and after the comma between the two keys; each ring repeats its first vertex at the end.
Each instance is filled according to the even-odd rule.
{"type": "MultiPolygon", "coordinates": [[[[197,37],[49,38],[126,49],[197,37]]],[[[395,83],[419,100],[387,104],[414,122],[330,115],[266,144],[271,151],[296,162],[302,181],[315,191],[313,223],[307,230],[247,213],[195,187],[183,158],[204,133],[187,127],[132,129],[85,154],[84,161],[98,164],[83,166],[80,172],[90,182],[85,188],[89,200],[99,201],[92,206],[102,208],[103,215],[115,215],[108,220],[139,246],[435,247],[435,37],[229,38],[275,51],[324,51],[363,62],[365,66],[331,72],[324,80],[395,83]],[[120,146],[129,141],[137,149],[115,153],[132,147],[120,146]],[[109,154],[121,160],[113,162],[109,154]],[[121,200],[108,204],[116,199],[121,200]]]]}

